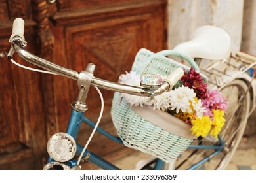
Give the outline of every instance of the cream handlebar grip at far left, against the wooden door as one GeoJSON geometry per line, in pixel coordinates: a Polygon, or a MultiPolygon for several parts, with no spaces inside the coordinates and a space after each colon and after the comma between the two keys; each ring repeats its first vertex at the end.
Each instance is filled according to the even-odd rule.
{"type": "Polygon", "coordinates": [[[24,25],[25,25],[25,22],[22,18],[16,18],[14,21],[13,21],[13,24],[12,24],[12,35],[10,37],[10,41],[12,42],[12,38],[15,37],[15,36],[18,36],[22,39],[22,42],[25,41],[25,38],[24,38],[24,25]]]}

